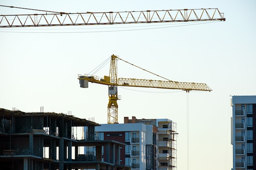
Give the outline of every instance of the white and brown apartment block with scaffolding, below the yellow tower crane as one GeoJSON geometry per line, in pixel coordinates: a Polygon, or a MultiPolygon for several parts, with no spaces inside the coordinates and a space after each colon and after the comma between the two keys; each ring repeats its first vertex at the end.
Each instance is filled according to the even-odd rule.
{"type": "Polygon", "coordinates": [[[170,119],[124,117],[124,124],[101,124],[95,127],[95,132],[99,140],[126,143],[121,146],[120,163],[131,166],[132,170],[175,170],[177,167],[176,123],[170,119]]]}

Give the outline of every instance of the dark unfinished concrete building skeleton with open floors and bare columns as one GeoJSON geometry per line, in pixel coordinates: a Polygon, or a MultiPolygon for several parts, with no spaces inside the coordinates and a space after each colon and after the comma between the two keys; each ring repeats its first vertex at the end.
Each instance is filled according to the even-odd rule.
{"type": "Polygon", "coordinates": [[[95,127],[100,125],[93,121],[62,113],[25,113],[3,108],[0,117],[3,170],[130,170],[130,166],[120,165],[119,161],[120,146],[126,144],[98,140],[95,127]],[[83,139],[75,137],[77,127],[87,127],[83,139]],[[79,154],[85,146],[94,146],[94,154],[79,154]],[[102,148],[108,148],[104,150],[104,159],[102,148]]]}

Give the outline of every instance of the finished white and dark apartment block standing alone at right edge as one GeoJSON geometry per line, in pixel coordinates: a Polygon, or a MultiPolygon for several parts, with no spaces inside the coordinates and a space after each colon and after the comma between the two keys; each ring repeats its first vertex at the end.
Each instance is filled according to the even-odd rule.
{"type": "Polygon", "coordinates": [[[232,170],[256,170],[256,96],[232,96],[232,170]]]}

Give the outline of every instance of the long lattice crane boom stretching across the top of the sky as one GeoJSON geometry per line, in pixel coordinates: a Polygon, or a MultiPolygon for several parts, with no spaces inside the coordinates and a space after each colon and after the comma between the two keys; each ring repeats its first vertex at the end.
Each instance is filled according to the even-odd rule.
{"type": "Polygon", "coordinates": [[[131,24],[188,21],[225,21],[217,8],[159,11],[45,13],[0,15],[1,27],[131,24]]]}

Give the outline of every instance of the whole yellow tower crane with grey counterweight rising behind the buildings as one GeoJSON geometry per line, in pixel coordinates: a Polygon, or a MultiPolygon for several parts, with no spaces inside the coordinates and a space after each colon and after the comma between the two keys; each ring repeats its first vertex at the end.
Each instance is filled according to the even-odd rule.
{"type": "MultiPolygon", "coordinates": [[[[174,82],[169,79],[162,80],[149,80],[149,79],[133,79],[133,78],[117,78],[116,60],[122,60],[116,55],[111,56],[109,76],[98,77],[95,75],[79,75],[79,83],[81,88],[88,88],[88,82],[108,85],[108,124],[118,123],[118,105],[117,100],[120,97],[117,94],[117,86],[128,87],[147,87],[147,88],[165,88],[165,89],[180,89],[184,91],[212,91],[207,84],[204,83],[187,83],[187,82],[174,82]]],[[[125,60],[123,60],[126,62],[125,60]]],[[[126,62],[129,63],[129,62],[126,62]]],[[[131,63],[129,63],[131,64],[131,63]]],[[[134,64],[132,64],[135,66],[134,64]]],[[[138,67],[138,66],[136,66],[138,67]]],[[[138,67],[140,68],[140,67],[138,67]]],[[[140,68],[143,69],[143,68],[140,68]]],[[[146,71],[145,69],[143,69],[146,71]]],[[[150,71],[147,71],[151,73],[150,71]]],[[[154,74],[154,73],[152,73],[154,74]]],[[[156,74],[154,74],[156,75],[156,74]]],[[[159,76],[159,75],[157,75],[159,76]]],[[[161,76],[159,76],[161,77],[161,76]]]]}

